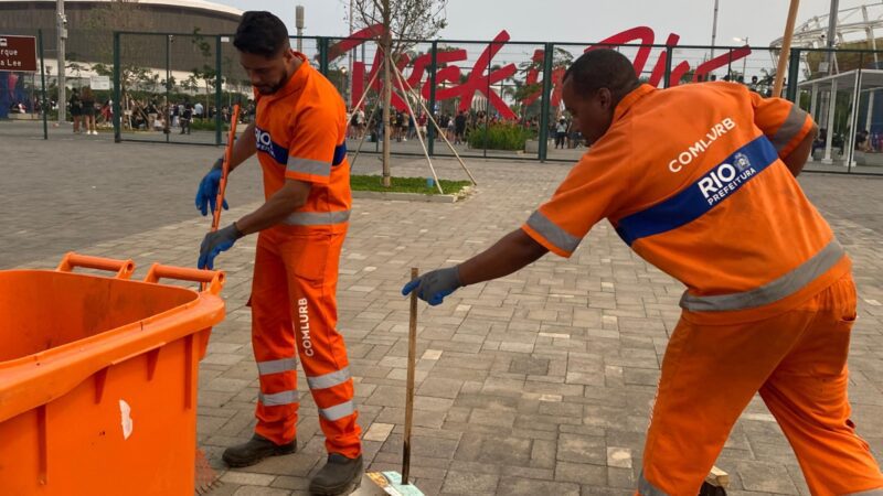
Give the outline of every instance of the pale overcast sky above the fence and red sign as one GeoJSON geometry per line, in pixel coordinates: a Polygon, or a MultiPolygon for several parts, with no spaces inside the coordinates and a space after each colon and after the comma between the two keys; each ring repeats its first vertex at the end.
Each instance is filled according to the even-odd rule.
{"type": "MultiPolygon", "coordinates": [[[[279,15],[295,33],[295,6],[306,11],[305,35],[339,36],[348,32],[349,0],[213,0],[242,10],[268,10],[279,15]]],[[[841,0],[840,9],[880,3],[874,0],[841,0]]],[[[766,46],[783,35],[788,0],[720,0],[717,45],[738,45],[734,37],[748,37],[752,46],[766,46]]],[[[829,0],[802,0],[800,22],[823,15],[829,0]]],[[[595,42],[637,25],[650,26],[656,43],[669,33],[682,45],[711,44],[714,0],[449,0],[448,28],[440,37],[490,40],[501,30],[512,41],[595,42]],[[504,8],[501,8],[504,6],[504,8]],[[541,7],[538,7],[541,6],[541,7]]],[[[881,13],[880,10],[876,13],[881,13]]],[[[860,20],[853,19],[854,21],[860,20]]]]}

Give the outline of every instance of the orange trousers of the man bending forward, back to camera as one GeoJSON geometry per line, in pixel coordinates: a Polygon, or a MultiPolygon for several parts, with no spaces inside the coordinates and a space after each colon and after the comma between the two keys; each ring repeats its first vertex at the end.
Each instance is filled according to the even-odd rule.
{"type": "Polygon", "coordinates": [[[699,325],[682,317],[662,362],[638,494],[695,496],[759,391],[813,495],[883,495],[880,467],[849,418],[854,320],[849,274],[764,321],[699,325]]]}

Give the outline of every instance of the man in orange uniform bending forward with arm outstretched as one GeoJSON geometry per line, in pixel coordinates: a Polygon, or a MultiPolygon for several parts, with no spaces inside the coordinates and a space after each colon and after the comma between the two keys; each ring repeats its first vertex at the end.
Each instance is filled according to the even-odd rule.
{"type": "Polygon", "coordinates": [[[656,89],[610,50],[566,72],[564,103],[592,145],[551,201],[459,266],[408,282],[430,304],[547,251],[570,257],[607,218],[687,285],[662,363],[638,494],[695,496],[759,391],[813,495],[883,495],[847,400],[851,262],[795,176],[817,129],[742,85],[656,89]]]}

